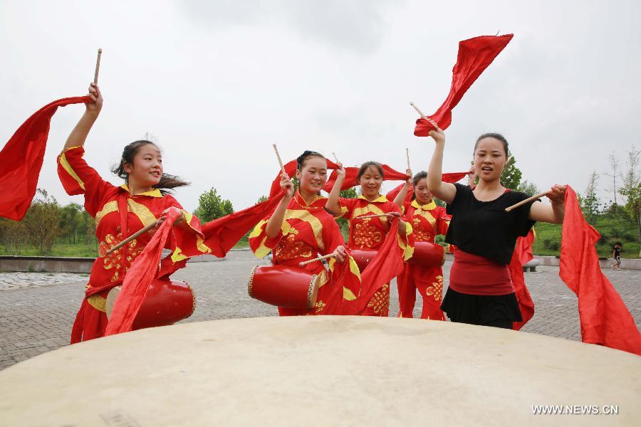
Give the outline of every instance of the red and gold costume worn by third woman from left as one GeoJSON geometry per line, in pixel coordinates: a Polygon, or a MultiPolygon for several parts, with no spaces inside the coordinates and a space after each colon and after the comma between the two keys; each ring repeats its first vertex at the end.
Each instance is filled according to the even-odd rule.
{"type": "MultiPolygon", "coordinates": [[[[400,208],[385,196],[379,196],[374,201],[368,201],[365,196],[358,196],[356,199],[338,199],[340,213],[338,217],[348,218],[350,222],[349,249],[363,249],[378,251],[385,241],[387,231],[390,229],[389,220],[386,216],[375,218],[359,218],[360,216],[382,215],[390,212],[400,213],[400,208]]],[[[398,238],[398,245],[403,250],[403,258],[407,260],[412,256],[413,247],[410,243],[412,226],[406,223],[405,238],[398,238]]],[[[363,290],[368,289],[368,283],[363,283],[363,290]]],[[[390,312],[390,284],[387,283],[377,290],[370,298],[364,316],[387,317],[390,312]]]]}

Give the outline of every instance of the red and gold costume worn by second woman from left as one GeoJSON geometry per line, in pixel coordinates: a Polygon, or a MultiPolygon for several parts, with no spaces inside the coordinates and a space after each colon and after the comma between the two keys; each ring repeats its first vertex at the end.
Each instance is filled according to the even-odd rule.
{"type": "MultiPolygon", "coordinates": [[[[316,196],[311,204],[306,204],[296,191],[285,211],[281,230],[274,238],[266,236],[265,228],[271,216],[258,223],[249,235],[249,246],[257,258],[264,258],[273,252],[274,265],[298,267],[298,263],[332,253],[344,245],[343,235],[338,224],[325,211],[327,198],[316,196]]],[[[355,301],[360,292],[360,272],[355,261],[349,257],[347,273],[338,277],[335,258],[329,260],[329,271],[323,263],[316,261],[300,267],[312,274],[320,275],[320,289],[316,306],[311,310],[278,307],[281,316],[296,315],[335,315],[342,314],[343,302],[355,301]]]]}

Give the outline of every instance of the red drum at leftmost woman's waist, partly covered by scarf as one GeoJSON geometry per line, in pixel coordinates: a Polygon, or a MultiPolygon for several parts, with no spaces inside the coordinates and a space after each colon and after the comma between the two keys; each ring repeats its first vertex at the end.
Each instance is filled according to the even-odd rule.
{"type": "MultiPolygon", "coordinates": [[[[107,295],[107,317],[111,317],[113,305],[120,293],[116,286],[107,295]]],[[[132,329],[173,325],[187,319],[196,310],[194,291],[187,283],[177,280],[154,280],[147,290],[145,300],[133,322],[132,329]]]]}

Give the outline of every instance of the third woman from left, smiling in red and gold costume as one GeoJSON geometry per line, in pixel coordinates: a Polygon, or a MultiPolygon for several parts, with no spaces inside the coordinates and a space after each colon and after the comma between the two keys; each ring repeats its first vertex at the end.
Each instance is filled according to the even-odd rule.
{"type": "MultiPolygon", "coordinates": [[[[380,186],[383,181],[381,164],[365,162],[361,165],[355,182],[355,184],[360,184],[361,194],[356,199],[339,197],[340,188],[345,180],[345,169],[340,163],[338,165],[340,166],[340,169],[336,169],[338,178],[330,191],[325,209],[338,218],[348,218],[350,223],[348,248],[377,251],[382,246],[390,228],[389,221],[397,217],[399,218],[398,244],[402,248],[403,258],[410,258],[413,250],[409,238],[412,226],[400,219],[401,212],[397,204],[387,200],[385,196],[381,196],[380,186]],[[359,218],[370,215],[381,216],[359,218]]],[[[368,285],[368,283],[363,283],[363,290],[367,289],[368,285]]],[[[387,283],[372,295],[363,315],[387,317],[389,311],[390,285],[387,283]]]]}

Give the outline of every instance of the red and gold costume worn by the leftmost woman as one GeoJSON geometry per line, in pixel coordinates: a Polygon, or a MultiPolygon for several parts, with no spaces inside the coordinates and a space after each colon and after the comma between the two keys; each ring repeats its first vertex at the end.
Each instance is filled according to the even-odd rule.
{"type": "MultiPolygon", "coordinates": [[[[105,298],[115,286],[123,283],[127,270],[142,253],[155,233],[152,229],[107,254],[108,249],[141,228],[160,218],[162,211],[182,206],[170,195],[154,189],[135,196],[127,185],[114,186],[104,181],[95,169],[83,159],[83,147],[71,147],[58,156],[58,176],[68,194],[84,194],[85,209],[95,218],[95,236],[98,238],[98,258],[93,263],[85,299],[73,323],[71,343],[103,337],[107,327],[105,298]]],[[[184,211],[184,226],[172,228],[167,249],[172,255],[163,258],[157,278],[167,278],[184,267],[187,258],[209,253],[203,242],[198,218],[184,211]]]]}

